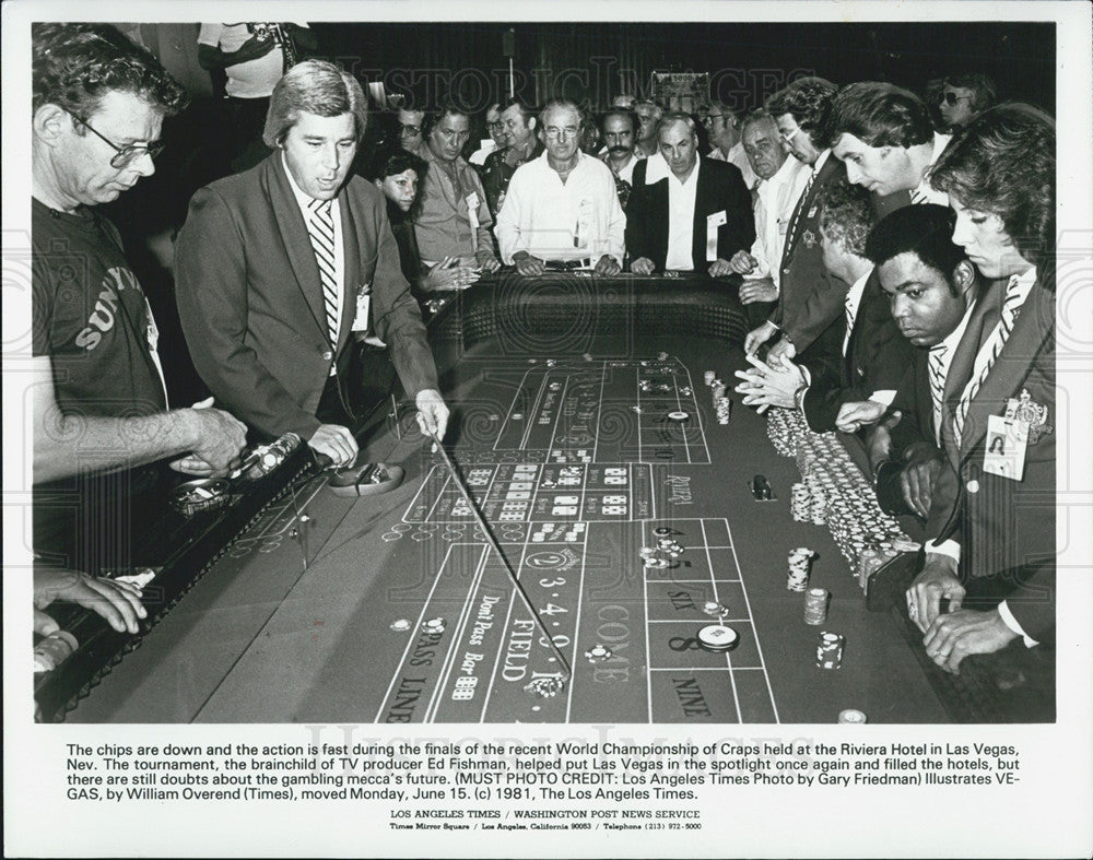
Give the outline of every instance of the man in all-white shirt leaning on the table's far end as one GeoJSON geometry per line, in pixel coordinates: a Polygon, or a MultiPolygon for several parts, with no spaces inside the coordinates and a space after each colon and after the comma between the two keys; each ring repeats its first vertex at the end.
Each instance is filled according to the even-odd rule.
{"type": "Polygon", "coordinates": [[[546,151],[513,174],[497,214],[502,260],[525,276],[549,268],[618,274],[626,216],[614,176],[580,151],[580,110],[573,102],[551,102],[540,122],[546,151]]]}

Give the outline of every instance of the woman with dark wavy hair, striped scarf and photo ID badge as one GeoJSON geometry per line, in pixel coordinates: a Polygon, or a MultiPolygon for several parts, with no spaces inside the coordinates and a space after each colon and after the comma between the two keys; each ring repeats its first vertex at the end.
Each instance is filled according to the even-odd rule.
{"type": "Polygon", "coordinates": [[[1054,120],[1002,105],[972,121],[931,177],[955,211],[953,241],[999,282],[949,369],[942,504],[931,503],[926,563],[907,590],[927,653],[950,672],[1055,634],[1055,169],[1054,120]],[[995,605],[963,608],[972,593],[995,605]]]}

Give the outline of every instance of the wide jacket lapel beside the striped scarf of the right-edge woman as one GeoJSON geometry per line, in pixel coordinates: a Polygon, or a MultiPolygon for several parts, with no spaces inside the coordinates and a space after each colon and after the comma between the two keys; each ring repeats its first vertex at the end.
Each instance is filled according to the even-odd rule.
{"type": "MultiPolygon", "coordinates": [[[[1004,284],[998,292],[1004,292],[1004,284]]],[[[1055,326],[1055,295],[1037,279],[1013,323],[1013,331],[983,381],[967,410],[961,451],[964,456],[975,448],[987,432],[987,416],[998,412],[1000,404],[1015,394],[1027,376],[1036,354],[1043,349],[1055,326]]]]}

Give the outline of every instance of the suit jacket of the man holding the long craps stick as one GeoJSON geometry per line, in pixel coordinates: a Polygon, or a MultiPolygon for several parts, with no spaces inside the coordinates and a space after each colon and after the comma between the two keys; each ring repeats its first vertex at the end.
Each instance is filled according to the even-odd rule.
{"type": "MultiPolygon", "coordinates": [[[[308,439],[337,365],[344,387],[356,297],[372,293],[372,325],[407,393],[436,388],[421,311],[399,267],[383,192],[359,177],[338,192],[344,293],[338,342],[327,329],[318,263],[280,151],[199,189],[175,251],[179,317],[216,404],[263,434],[308,439]]],[[[350,402],[342,390],[342,399],[350,402]]]]}

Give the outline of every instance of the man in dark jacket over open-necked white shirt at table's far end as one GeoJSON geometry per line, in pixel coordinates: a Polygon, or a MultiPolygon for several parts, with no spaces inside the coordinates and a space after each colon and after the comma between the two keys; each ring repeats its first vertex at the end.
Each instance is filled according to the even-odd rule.
{"type": "Polygon", "coordinates": [[[634,167],[626,204],[631,271],[730,274],[729,260],[755,240],[751,195],[733,164],[698,155],[694,120],[668,114],[660,151],[634,167]]]}

